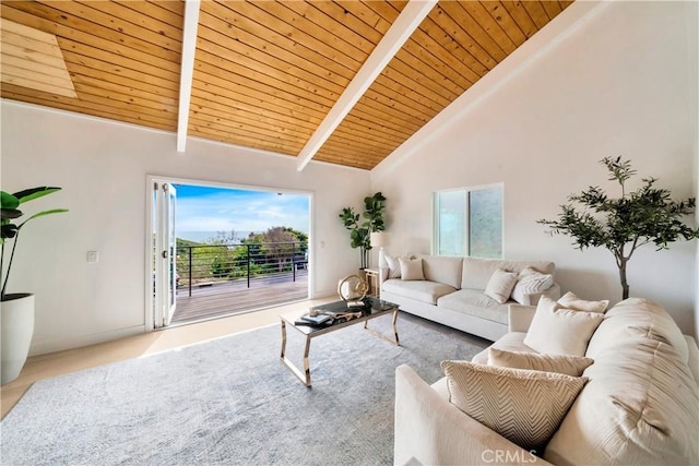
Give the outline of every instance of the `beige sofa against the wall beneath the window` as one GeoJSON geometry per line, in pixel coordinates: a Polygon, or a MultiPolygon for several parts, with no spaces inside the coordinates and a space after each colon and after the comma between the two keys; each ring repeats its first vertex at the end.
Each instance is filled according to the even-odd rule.
{"type": "MultiPolygon", "coordinates": [[[[509,299],[499,303],[485,295],[486,286],[498,270],[521,273],[532,267],[554,275],[548,261],[506,261],[496,259],[417,255],[424,279],[404,279],[399,271],[380,270],[381,299],[395,302],[402,311],[496,340],[508,332],[509,299]]],[[[514,296],[519,303],[536,304],[542,295],[558,299],[560,287],[555,282],[543,292],[514,296]]]]}

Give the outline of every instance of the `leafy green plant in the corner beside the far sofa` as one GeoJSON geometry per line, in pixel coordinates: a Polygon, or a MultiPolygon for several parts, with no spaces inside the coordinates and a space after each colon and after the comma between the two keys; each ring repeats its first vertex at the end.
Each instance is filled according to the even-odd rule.
{"type": "Polygon", "coordinates": [[[371,249],[370,235],[386,229],[383,215],[386,213],[386,198],[380,192],[364,198],[364,213],[362,216],[355,213],[353,207],[344,207],[340,218],[345,228],[350,230],[350,246],[359,248],[362,253],[362,268],[369,265],[369,250],[371,249]],[[364,222],[359,222],[364,218],[364,222]]]}

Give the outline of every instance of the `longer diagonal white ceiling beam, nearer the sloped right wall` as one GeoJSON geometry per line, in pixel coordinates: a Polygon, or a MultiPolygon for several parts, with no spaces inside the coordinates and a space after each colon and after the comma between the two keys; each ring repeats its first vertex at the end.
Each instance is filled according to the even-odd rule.
{"type": "Polygon", "coordinates": [[[330,109],[313,135],[298,154],[296,169],[301,171],[322,147],[332,132],[340,126],[354,105],[362,98],[386,65],[403,47],[413,32],[437,4],[437,0],[411,0],[391,25],[369,58],[364,62],[350,85],[330,109]]]}

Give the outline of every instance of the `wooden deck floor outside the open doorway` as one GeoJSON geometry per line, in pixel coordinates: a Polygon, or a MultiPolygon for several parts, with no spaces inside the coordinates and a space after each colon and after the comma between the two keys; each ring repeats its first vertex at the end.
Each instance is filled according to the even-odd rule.
{"type": "Polygon", "coordinates": [[[173,324],[210,319],[263,309],[286,302],[308,299],[308,271],[296,272],[293,282],[291,272],[270,278],[224,282],[204,287],[187,287],[177,290],[177,307],[173,324]]]}

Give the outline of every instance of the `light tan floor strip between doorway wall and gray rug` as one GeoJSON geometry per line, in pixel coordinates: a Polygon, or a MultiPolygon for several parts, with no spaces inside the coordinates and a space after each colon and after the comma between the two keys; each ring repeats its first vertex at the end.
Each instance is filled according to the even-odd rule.
{"type": "Polygon", "coordinates": [[[32,357],[26,361],[22,373],[16,380],[0,387],[2,417],[12,409],[29,386],[38,380],[123,359],[153,355],[264,325],[277,324],[280,314],[301,313],[311,306],[323,304],[335,299],[335,297],[329,297],[300,301],[277,308],[175,326],[98,345],[32,357]]]}

